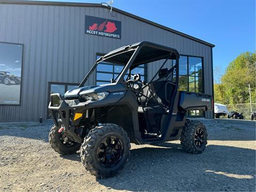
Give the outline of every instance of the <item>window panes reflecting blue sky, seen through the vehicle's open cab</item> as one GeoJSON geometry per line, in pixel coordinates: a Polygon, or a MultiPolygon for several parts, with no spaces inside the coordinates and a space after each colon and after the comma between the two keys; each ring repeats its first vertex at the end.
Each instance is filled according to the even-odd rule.
{"type": "MultiPolygon", "coordinates": [[[[102,54],[97,54],[96,59],[99,59],[102,54]]],[[[100,62],[96,69],[96,84],[102,85],[111,83],[111,78],[115,79],[123,70],[124,66],[118,65],[115,63],[108,63],[108,62],[100,62]]],[[[140,74],[141,81],[147,82],[147,75],[145,72],[145,65],[141,65],[137,68],[134,68],[131,71],[131,74],[140,74]]],[[[124,76],[126,79],[128,74],[124,76]]]]}

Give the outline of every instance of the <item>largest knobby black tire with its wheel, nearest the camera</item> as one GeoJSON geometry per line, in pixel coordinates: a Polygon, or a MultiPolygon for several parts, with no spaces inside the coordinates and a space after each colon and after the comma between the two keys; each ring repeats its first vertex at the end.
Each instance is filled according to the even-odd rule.
{"type": "Polygon", "coordinates": [[[92,175],[97,178],[110,177],[123,168],[130,156],[130,148],[130,139],[126,131],[118,125],[107,123],[95,127],[88,133],[82,144],[80,156],[85,169],[92,175]],[[109,138],[113,145],[108,144],[109,138]],[[109,150],[114,157],[113,154],[109,154],[109,150]],[[113,165],[109,166],[110,164],[113,165]]]}

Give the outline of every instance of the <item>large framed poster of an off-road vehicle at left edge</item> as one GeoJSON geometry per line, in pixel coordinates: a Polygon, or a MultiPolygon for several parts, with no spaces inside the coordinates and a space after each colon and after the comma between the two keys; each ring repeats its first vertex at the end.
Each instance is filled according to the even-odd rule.
{"type": "Polygon", "coordinates": [[[0,105],[20,105],[23,45],[0,42],[0,105]]]}

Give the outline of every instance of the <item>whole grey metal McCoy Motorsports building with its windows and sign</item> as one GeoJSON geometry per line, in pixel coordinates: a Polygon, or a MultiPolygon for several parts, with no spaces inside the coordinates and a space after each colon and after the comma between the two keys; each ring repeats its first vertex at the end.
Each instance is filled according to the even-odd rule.
{"type": "MultiPolygon", "coordinates": [[[[46,119],[51,92],[76,86],[99,55],[140,41],[179,51],[180,89],[213,94],[213,44],[105,4],[0,0],[0,76],[5,69],[13,76],[0,82],[0,121],[46,119]]],[[[145,80],[158,66],[141,68],[145,80]]],[[[101,72],[90,84],[115,75],[101,72]]],[[[213,118],[213,111],[189,115],[213,118]]]]}

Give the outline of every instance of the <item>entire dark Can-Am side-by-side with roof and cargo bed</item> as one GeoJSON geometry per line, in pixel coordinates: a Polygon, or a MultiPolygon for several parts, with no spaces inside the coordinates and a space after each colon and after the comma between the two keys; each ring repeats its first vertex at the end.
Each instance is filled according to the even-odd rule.
{"type": "Polygon", "coordinates": [[[102,56],[78,89],[63,97],[51,94],[52,148],[60,154],[81,148],[85,169],[97,177],[122,169],[130,156],[130,142],[140,145],[180,138],[183,149],[202,153],[207,144],[205,126],[186,120],[185,114],[188,110],[212,110],[212,96],[179,91],[178,74],[179,53],[150,42],[124,46],[102,56]],[[109,84],[85,86],[97,66],[106,63],[119,65],[121,73],[109,84]],[[140,65],[158,68],[148,83],[134,74],[133,69],[140,65]]]}

